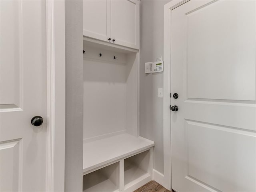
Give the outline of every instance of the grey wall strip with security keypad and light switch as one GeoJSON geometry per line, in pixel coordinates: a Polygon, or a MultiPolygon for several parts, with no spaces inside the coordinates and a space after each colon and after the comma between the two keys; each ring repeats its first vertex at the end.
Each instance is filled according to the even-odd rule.
{"type": "Polygon", "coordinates": [[[164,173],[163,72],[145,74],[145,62],[164,55],[164,4],[170,0],[141,0],[140,4],[140,136],[153,140],[154,169],[164,173]]]}

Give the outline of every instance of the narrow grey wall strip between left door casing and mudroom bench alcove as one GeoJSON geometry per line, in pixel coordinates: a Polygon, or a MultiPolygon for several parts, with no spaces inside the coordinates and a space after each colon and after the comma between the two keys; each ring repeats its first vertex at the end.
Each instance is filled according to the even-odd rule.
{"type": "MultiPolygon", "coordinates": [[[[66,154],[65,191],[82,191],[83,30],[82,0],[65,0],[66,154]]],[[[65,67],[65,66],[63,66],[65,67]]],[[[65,83],[65,82],[63,82],[65,83]]]]}

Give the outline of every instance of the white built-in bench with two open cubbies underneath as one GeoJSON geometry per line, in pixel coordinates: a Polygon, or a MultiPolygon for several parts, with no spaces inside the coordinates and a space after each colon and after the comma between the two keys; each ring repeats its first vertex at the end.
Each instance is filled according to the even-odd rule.
{"type": "Polygon", "coordinates": [[[146,184],[152,180],[153,146],[153,141],[130,134],[84,143],[84,191],[128,192],[146,184]],[[94,184],[88,183],[92,177],[94,184]]]}

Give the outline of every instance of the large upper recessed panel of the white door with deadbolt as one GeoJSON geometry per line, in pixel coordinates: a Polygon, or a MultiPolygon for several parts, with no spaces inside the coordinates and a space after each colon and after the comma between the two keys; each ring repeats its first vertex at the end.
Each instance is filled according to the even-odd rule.
{"type": "Polygon", "coordinates": [[[187,14],[188,98],[255,100],[254,14],[241,0],[187,14]]]}

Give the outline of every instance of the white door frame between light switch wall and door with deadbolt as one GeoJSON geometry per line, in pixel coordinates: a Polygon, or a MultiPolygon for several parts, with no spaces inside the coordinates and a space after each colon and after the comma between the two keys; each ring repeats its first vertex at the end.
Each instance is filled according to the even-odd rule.
{"type": "Polygon", "coordinates": [[[164,187],[171,190],[171,11],[189,0],[172,0],[164,5],[164,187]]]}

